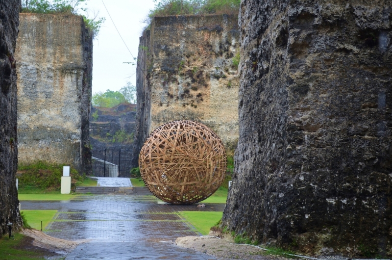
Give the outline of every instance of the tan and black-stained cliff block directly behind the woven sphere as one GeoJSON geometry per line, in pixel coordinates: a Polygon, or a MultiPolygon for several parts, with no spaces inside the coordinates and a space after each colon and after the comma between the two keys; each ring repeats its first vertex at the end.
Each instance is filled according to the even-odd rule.
{"type": "Polygon", "coordinates": [[[142,142],[146,132],[186,119],[211,127],[226,148],[237,145],[239,79],[232,62],[239,51],[237,24],[229,15],[154,18],[141,38],[138,60],[142,142]]]}

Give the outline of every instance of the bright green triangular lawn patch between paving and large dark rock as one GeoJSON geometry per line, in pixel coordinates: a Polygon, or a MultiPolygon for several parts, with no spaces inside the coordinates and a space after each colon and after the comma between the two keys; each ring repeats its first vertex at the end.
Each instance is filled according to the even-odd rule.
{"type": "Polygon", "coordinates": [[[221,220],[223,212],[220,211],[181,211],[178,212],[191,223],[201,234],[208,234],[211,227],[221,220]]]}

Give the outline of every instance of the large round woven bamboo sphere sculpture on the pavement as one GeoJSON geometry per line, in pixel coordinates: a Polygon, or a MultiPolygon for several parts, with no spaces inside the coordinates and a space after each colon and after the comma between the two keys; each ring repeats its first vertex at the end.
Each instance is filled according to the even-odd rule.
{"type": "Polygon", "coordinates": [[[172,204],[194,204],[211,196],[225,177],[221,139],[195,121],[173,121],[155,129],[139,156],[147,188],[172,204]]]}

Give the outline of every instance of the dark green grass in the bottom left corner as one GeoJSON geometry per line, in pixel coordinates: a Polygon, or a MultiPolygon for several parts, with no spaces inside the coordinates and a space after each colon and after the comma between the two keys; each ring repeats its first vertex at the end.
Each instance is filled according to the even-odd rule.
{"type": "Polygon", "coordinates": [[[8,235],[0,238],[1,260],[37,260],[45,258],[45,252],[32,250],[26,245],[28,239],[23,234],[14,234],[15,239],[8,239],[8,235]]]}

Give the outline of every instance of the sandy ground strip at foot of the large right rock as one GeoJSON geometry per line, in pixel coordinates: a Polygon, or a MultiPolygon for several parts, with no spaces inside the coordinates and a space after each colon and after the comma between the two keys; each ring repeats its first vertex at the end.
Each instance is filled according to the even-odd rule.
{"type": "Polygon", "coordinates": [[[175,244],[180,247],[194,249],[217,259],[287,260],[279,256],[266,256],[262,250],[253,246],[232,243],[234,242],[231,236],[224,236],[221,239],[208,236],[185,236],[175,240],[175,244]]]}

